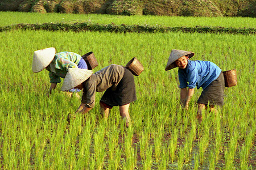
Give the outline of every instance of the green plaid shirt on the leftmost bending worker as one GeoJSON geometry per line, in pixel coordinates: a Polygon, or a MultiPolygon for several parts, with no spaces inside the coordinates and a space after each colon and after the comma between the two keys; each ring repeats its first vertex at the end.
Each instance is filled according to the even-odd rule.
{"type": "Polygon", "coordinates": [[[65,78],[68,68],[77,68],[80,59],[81,56],[73,52],[56,53],[53,61],[46,67],[50,83],[60,83],[60,78],[65,78]]]}

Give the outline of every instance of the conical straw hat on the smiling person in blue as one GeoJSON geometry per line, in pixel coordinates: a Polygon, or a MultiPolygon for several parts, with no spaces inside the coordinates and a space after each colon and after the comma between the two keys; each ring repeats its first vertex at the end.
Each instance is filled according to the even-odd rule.
{"type": "Polygon", "coordinates": [[[188,55],[188,58],[191,58],[191,57],[194,56],[194,54],[195,53],[193,53],[193,52],[186,52],[186,51],[183,51],[183,50],[175,50],[175,49],[172,50],[171,54],[170,54],[170,57],[168,59],[167,65],[166,65],[166,71],[174,69],[175,67],[177,67],[174,62],[177,59],[179,59],[180,57],[188,55]]]}

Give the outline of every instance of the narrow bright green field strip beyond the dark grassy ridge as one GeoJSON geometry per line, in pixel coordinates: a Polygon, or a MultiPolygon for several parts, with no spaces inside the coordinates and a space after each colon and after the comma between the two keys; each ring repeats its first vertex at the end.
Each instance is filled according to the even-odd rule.
{"type": "Polygon", "coordinates": [[[12,25],[19,23],[76,23],[90,22],[98,24],[127,24],[127,25],[162,25],[166,27],[233,27],[255,28],[256,18],[225,18],[225,17],[181,17],[181,16],[121,16],[100,14],[56,14],[56,13],[26,13],[26,12],[1,12],[0,25],[12,25]]]}

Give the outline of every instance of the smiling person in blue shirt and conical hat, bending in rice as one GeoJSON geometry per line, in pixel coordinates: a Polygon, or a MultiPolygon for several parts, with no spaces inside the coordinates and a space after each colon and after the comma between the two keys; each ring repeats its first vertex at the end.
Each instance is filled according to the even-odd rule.
{"type": "Polygon", "coordinates": [[[179,67],[180,103],[185,109],[188,109],[195,87],[203,88],[197,100],[197,118],[201,120],[201,113],[208,105],[210,112],[217,112],[215,105],[223,105],[225,82],[224,75],[216,64],[210,61],[189,60],[194,54],[184,50],[172,50],[165,70],[179,67]]]}

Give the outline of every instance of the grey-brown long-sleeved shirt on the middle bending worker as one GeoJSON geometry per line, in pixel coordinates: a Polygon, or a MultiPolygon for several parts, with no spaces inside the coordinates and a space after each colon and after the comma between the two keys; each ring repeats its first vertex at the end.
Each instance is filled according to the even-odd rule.
{"type": "Polygon", "coordinates": [[[96,91],[102,92],[112,87],[115,91],[117,84],[123,78],[125,74],[125,68],[119,65],[109,65],[92,74],[89,79],[84,83],[84,94],[82,94],[82,103],[86,104],[86,107],[93,108],[95,105],[96,91]]]}

